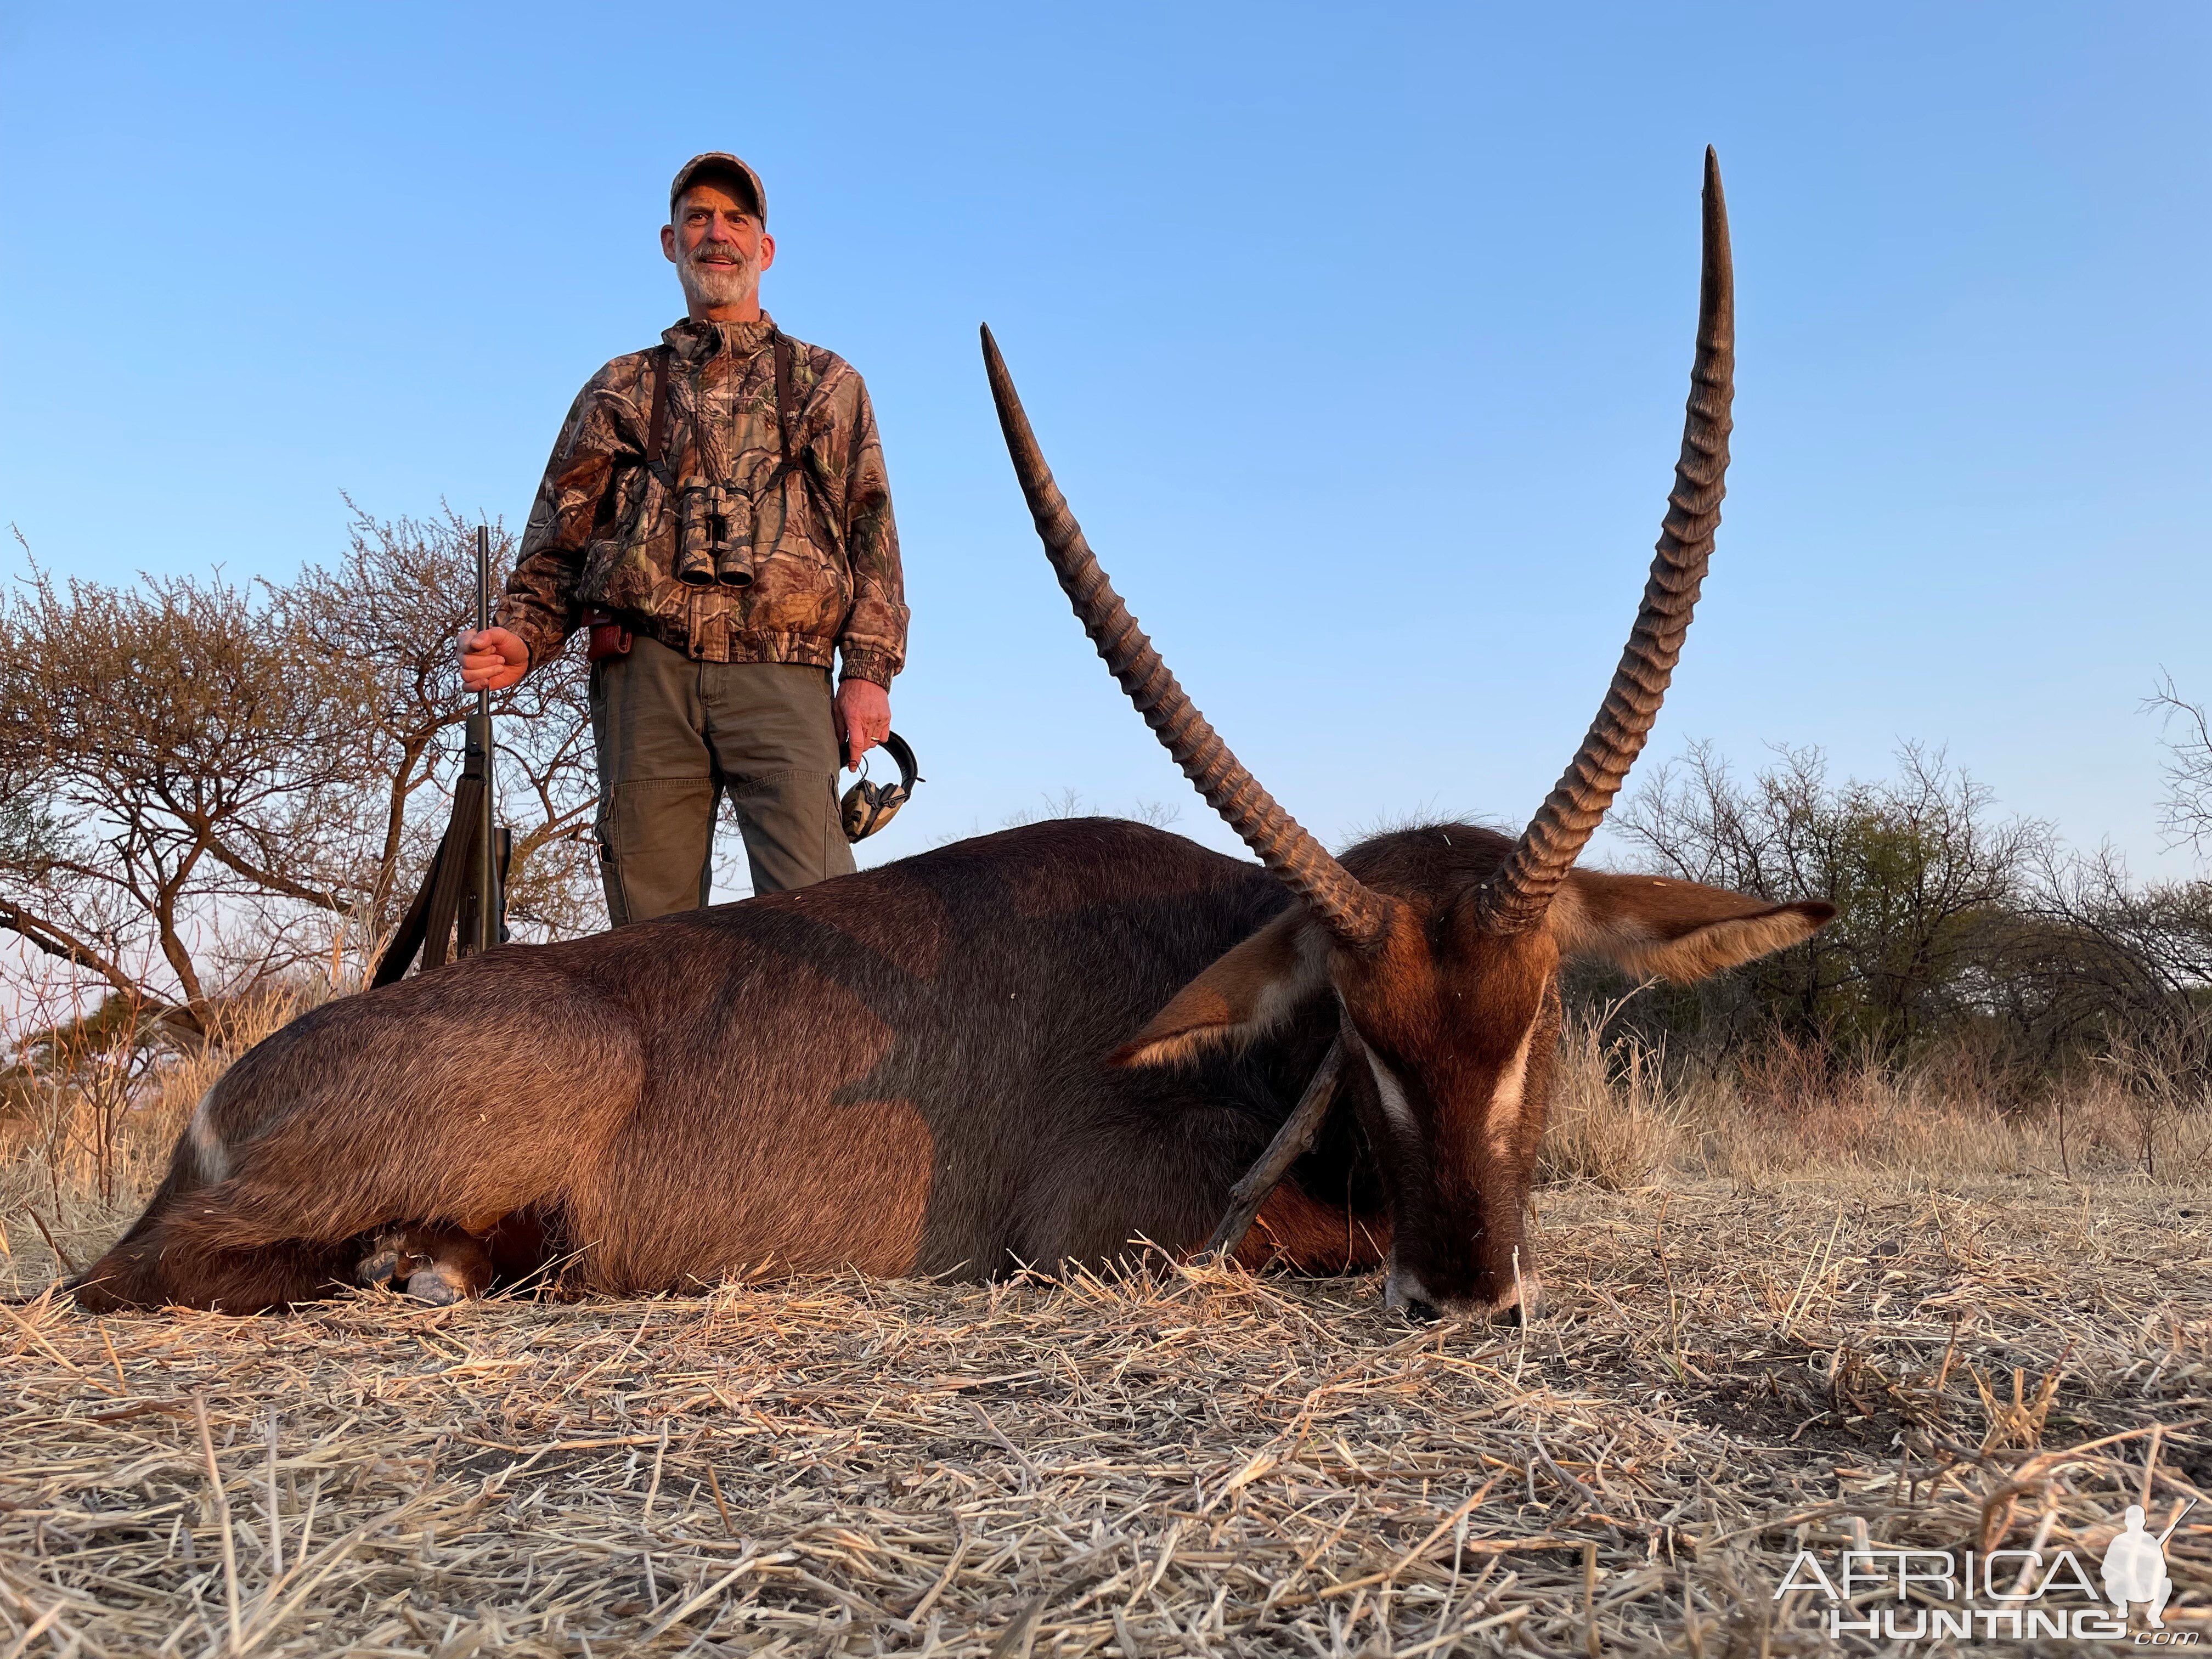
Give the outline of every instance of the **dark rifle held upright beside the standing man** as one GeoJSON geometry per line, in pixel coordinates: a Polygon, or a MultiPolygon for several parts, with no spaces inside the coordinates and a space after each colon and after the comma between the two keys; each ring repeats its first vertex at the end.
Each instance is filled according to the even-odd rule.
{"type": "MultiPolygon", "coordinates": [[[[491,626],[491,531],[476,526],[476,630],[491,626]]],[[[513,830],[498,821],[491,772],[491,692],[476,695],[462,741],[460,776],[453,781],[453,816],[429,860],[422,887],[407,907],[369,984],[398,980],[416,951],[422,969],[442,967],[447,940],[453,956],[476,956],[507,942],[507,867],[513,860],[513,830]],[[456,929],[458,922],[458,929],[456,929]],[[456,938],[458,933],[458,938],[456,938]]]]}

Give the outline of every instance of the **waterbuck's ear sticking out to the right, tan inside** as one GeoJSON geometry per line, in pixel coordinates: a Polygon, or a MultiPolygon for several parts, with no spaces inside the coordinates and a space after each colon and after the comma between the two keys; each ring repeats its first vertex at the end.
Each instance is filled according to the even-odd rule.
{"type": "Polygon", "coordinates": [[[1599,956],[1637,975],[1703,980],[1812,938],[1834,905],[1770,905],[1721,887],[1663,876],[1577,869],[1551,905],[1562,956],[1599,956]]]}

